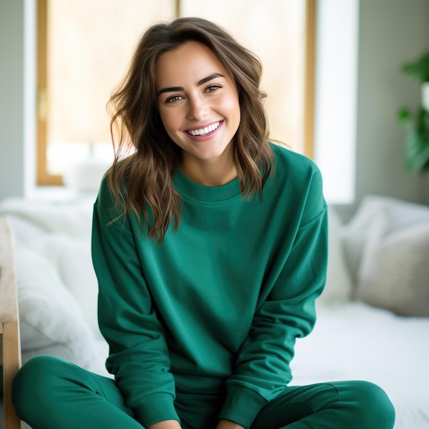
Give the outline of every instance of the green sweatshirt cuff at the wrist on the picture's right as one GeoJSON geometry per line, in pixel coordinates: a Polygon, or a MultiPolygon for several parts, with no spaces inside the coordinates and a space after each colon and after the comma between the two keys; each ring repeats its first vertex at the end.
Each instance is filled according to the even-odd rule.
{"type": "Polygon", "coordinates": [[[259,393],[239,384],[227,384],[225,403],[219,420],[234,421],[245,428],[250,428],[260,410],[268,404],[259,393]]]}

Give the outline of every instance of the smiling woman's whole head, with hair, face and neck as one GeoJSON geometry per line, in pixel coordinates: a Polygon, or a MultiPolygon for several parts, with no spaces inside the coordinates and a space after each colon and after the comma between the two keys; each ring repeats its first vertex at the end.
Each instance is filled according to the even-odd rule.
{"type": "Polygon", "coordinates": [[[164,25],[151,27],[136,48],[127,76],[110,99],[117,150],[108,182],[118,203],[118,216],[141,212],[149,235],[160,243],[171,223],[178,228],[182,215],[182,196],[173,186],[177,169],[202,185],[226,184],[237,176],[241,193],[250,197],[262,195],[274,164],[267,141],[266,95],[260,90],[262,64],[221,27],[204,19],[193,20],[173,21],[172,34],[164,25]],[[187,57],[191,54],[192,61],[187,57]],[[208,77],[213,82],[206,82],[208,77]],[[219,88],[222,85],[225,88],[219,88]],[[196,88],[205,88],[205,92],[201,95],[196,88]],[[225,103],[222,112],[208,105],[208,100],[219,99],[218,93],[225,103]],[[198,118],[209,110],[212,127],[219,122],[215,132],[219,138],[210,141],[199,136],[199,130],[204,134],[210,121],[198,118]],[[223,118],[227,111],[228,117],[223,118]],[[191,139],[197,134],[195,130],[198,136],[191,139]],[[185,135],[186,131],[190,133],[185,135]],[[232,138],[234,144],[230,145],[232,138]],[[205,145],[199,140],[205,140],[205,145]],[[136,153],[126,157],[130,145],[136,153]],[[224,145],[223,150],[219,145],[224,145]],[[211,155],[206,148],[211,148],[211,155]]]}

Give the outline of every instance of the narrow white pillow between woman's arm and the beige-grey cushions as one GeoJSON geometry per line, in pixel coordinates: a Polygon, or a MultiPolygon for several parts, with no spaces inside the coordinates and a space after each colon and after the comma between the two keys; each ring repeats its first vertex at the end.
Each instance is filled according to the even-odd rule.
{"type": "Polygon", "coordinates": [[[343,230],[339,215],[328,207],[328,271],[325,290],[317,300],[319,304],[339,304],[352,295],[352,281],[343,254],[343,230]]]}

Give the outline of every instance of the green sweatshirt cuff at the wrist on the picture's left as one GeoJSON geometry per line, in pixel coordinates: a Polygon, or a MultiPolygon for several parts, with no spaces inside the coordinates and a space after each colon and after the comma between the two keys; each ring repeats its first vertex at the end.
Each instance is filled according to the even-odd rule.
{"type": "Polygon", "coordinates": [[[142,398],[137,406],[134,406],[136,420],[147,428],[152,424],[164,420],[177,420],[179,416],[174,408],[174,398],[169,393],[151,393],[142,398]]]}

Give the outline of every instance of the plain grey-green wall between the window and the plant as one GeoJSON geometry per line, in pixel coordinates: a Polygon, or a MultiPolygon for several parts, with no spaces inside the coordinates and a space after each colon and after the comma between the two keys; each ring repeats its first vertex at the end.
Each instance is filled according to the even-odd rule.
{"type": "Polygon", "coordinates": [[[360,0],[359,14],[356,201],[375,193],[428,203],[428,186],[404,171],[396,112],[419,103],[400,66],[429,51],[429,1],[360,0]]]}

